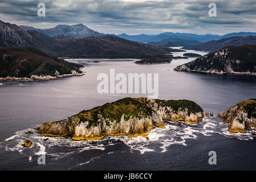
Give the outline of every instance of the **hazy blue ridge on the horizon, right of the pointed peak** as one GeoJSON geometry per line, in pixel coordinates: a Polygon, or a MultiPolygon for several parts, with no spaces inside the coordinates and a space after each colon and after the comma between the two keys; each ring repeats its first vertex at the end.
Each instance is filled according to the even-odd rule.
{"type": "Polygon", "coordinates": [[[164,39],[192,39],[192,40],[197,40],[199,42],[207,42],[209,40],[214,40],[218,39],[221,36],[220,35],[213,35],[213,34],[205,34],[205,35],[197,35],[197,34],[187,34],[187,33],[173,33],[173,32],[164,32],[162,34],[157,34],[157,35],[146,35],[146,34],[141,34],[141,35],[127,35],[127,34],[120,34],[117,35],[120,38],[128,39],[128,40],[133,40],[137,42],[144,42],[144,43],[149,43],[149,42],[160,42],[161,40],[164,39]]]}

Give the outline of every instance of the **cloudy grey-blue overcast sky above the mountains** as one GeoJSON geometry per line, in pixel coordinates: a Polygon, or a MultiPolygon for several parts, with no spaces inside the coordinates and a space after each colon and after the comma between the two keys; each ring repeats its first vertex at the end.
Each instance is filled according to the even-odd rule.
{"type": "Polygon", "coordinates": [[[0,0],[0,19],[35,28],[83,23],[92,30],[108,34],[221,35],[256,32],[256,1],[0,0]],[[211,2],[217,5],[216,17],[208,15],[211,2]],[[45,17],[38,17],[38,3],[46,5],[45,17]]]}

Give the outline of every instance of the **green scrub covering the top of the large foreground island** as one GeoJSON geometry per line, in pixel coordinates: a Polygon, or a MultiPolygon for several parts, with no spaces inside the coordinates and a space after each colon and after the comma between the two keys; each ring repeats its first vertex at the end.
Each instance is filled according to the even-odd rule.
{"type": "MultiPolygon", "coordinates": [[[[188,109],[188,114],[190,113],[200,113],[203,112],[202,108],[196,104],[196,102],[189,100],[155,100],[160,106],[172,107],[174,111],[178,109],[184,111],[185,108],[188,109]]],[[[102,106],[94,107],[90,110],[83,110],[80,113],[70,117],[70,121],[74,117],[79,118],[79,122],[89,122],[88,128],[92,126],[97,126],[99,124],[99,114],[105,118],[107,125],[109,122],[116,121],[120,122],[122,115],[124,114],[124,119],[128,120],[133,117],[141,119],[141,117],[147,118],[151,116],[153,110],[145,104],[144,98],[123,98],[121,100],[104,104],[102,106]]]]}

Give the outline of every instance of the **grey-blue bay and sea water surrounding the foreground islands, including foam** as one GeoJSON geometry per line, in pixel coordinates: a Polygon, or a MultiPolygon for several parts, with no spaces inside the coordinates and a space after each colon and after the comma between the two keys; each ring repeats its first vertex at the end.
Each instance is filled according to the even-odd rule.
{"type": "MultiPolygon", "coordinates": [[[[205,52],[191,51],[204,54],[205,52]]],[[[176,53],[177,56],[181,53],[176,53]]],[[[207,75],[175,72],[177,65],[137,65],[132,60],[69,60],[86,65],[86,75],[50,81],[0,84],[0,169],[26,170],[208,170],[256,169],[255,129],[232,134],[217,114],[239,101],[256,97],[256,78],[249,76],[207,75]],[[91,61],[91,62],[90,62],[91,61]],[[188,99],[204,111],[214,113],[198,124],[166,123],[166,129],[154,129],[149,140],[127,136],[105,137],[97,141],[72,141],[40,134],[26,135],[34,127],[58,121],[81,110],[123,97],[147,97],[148,94],[99,94],[99,73],[159,73],[159,98],[188,99]],[[30,148],[21,144],[29,138],[30,148]],[[208,152],[217,152],[217,164],[209,165],[208,152]],[[37,159],[46,154],[46,165],[37,159]]]]}

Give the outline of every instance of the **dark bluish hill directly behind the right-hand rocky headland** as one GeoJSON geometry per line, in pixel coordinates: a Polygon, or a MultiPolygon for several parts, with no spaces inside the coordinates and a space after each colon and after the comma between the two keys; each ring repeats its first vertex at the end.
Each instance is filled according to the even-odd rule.
{"type": "Polygon", "coordinates": [[[244,44],[256,44],[256,36],[234,36],[220,40],[212,40],[196,46],[185,46],[184,49],[198,51],[217,51],[225,46],[242,46],[244,44]]]}

